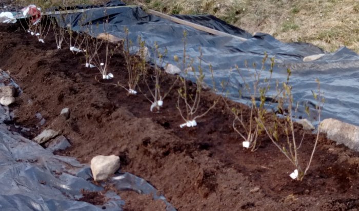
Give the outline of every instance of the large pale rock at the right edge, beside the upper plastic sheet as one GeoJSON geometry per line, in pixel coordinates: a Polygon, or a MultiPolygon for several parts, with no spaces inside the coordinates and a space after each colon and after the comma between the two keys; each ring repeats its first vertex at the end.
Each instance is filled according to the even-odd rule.
{"type": "Polygon", "coordinates": [[[330,118],[321,122],[321,131],[336,143],[343,143],[350,149],[359,151],[359,126],[330,118]]]}

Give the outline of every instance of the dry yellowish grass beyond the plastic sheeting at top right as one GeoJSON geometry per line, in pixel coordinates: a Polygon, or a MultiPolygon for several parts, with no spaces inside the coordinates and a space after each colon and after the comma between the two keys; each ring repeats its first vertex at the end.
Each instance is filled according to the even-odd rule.
{"type": "Polygon", "coordinates": [[[282,41],[304,41],[335,51],[359,53],[357,0],[135,0],[170,14],[213,14],[251,33],[269,33],[282,41]]]}

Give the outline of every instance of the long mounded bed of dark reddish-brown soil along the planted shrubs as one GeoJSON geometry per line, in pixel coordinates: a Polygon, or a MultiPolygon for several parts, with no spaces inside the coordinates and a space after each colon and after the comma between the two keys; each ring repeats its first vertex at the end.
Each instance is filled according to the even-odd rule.
{"type": "MultiPolygon", "coordinates": [[[[17,25],[0,25],[0,68],[9,71],[24,91],[10,109],[16,115],[14,123],[31,129],[25,134],[29,138],[51,128],[61,130],[72,144],[62,155],[82,162],[99,154],[118,155],[121,171],[149,181],[178,210],[359,208],[359,154],[347,147],[321,136],[308,175],[302,182],[291,180],[294,167],[265,136],[260,137],[256,152],[243,149],[223,102],[196,128],[179,129],[183,120],[175,107],[176,90],[165,99],[160,113],[151,113],[142,94],[127,96],[121,88],[96,81],[95,76],[101,75],[84,67],[82,54],[74,55],[67,47],[56,50],[51,34],[42,44],[17,29],[17,25]],[[63,108],[71,110],[68,120],[59,116],[63,108]],[[38,112],[46,119],[42,126],[35,117],[38,112]]],[[[119,52],[111,58],[110,72],[116,80],[106,82],[120,78],[126,84],[119,52]]],[[[162,89],[174,79],[167,75],[162,89]]],[[[204,92],[201,109],[216,98],[204,92]]],[[[305,132],[296,126],[296,133],[299,137],[305,132]]],[[[306,134],[299,152],[303,163],[313,141],[314,136],[306,134]]],[[[128,198],[137,197],[143,196],[128,198]]],[[[145,209],[132,201],[129,210],[145,209]]],[[[162,210],[163,204],[157,205],[152,210],[162,210]]]]}

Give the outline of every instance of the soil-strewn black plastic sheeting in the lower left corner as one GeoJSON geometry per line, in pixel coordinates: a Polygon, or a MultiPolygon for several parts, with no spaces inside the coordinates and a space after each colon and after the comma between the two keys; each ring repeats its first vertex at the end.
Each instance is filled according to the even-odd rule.
{"type": "MultiPolygon", "coordinates": [[[[10,76],[2,71],[0,79],[5,78],[9,79],[10,76]]],[[[19,88],[13,80],[9,81],[10,85],[19,88]]],[[[4,84],[0,83],[0,86],[4,84]]],[[[8,131],[8,125],[4,122],[12,118],[9,108],[0,106],[0,210],[123,210],[126,202],[112,191],[106,192],[108,201],[103,205],[78,201],[83,196],[82,189],[104,191],[103,186],[91,183],[93,178],[89,165],[81,164],[74,158],[53,155],[51,150],[8,131]]],[[[164,196],[142,178],[117,172],[109,183],[118,191],[150,194],[154,200],[164,201],[168,211],[175,210],[164,196]]]]}

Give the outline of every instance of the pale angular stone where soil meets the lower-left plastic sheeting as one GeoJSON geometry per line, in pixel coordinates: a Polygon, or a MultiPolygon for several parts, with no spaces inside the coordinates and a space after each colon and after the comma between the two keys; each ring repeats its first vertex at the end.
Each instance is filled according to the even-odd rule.
{"type": "Polygon", "coordinates": [[[119,168],[119,157],[97,155],[91,159],[91,171],[95,181],[105,180],[119,168]]]}

